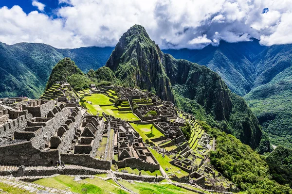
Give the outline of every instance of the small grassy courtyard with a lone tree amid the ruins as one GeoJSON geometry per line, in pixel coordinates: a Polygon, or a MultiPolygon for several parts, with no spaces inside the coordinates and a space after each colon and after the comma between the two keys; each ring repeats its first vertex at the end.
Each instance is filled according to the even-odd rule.
{"type": "Polygon", "coordinates": [[[158,129],[156,129],[153,126],[152,133],[151,133],[151,126],[152,124],[147,124],[147,125],[140,125],[140,124],[134,124],[131,123],[131,126],[140,134],[142,137],[143,141],[145,142],[146,139],[153,139],[153,138],[158,138],[161,136],[164,136],[158,129]]]}

